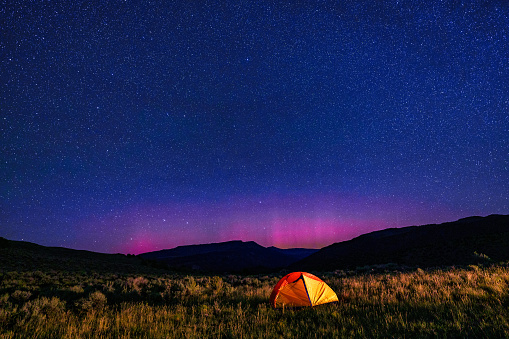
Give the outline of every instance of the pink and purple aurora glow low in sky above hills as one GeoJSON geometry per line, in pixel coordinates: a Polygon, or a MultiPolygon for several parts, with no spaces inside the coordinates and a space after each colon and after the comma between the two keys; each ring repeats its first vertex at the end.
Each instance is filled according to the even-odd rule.
{"type": "Polygon", "coordinates": [[[321,248],[374,230],[450,221],[456,216],[446,208],[435,208],[435,219],[429,220],[426,216],[432,207],[409,206],[415,203],[380,199],[367,204],[356,197],[334,196],[146,204],[83,222],[76,247],[139,254],[180,245],[243,240],[281,248],[321,248]],[[398,212],[402,210],[404,215],[398,212]],[[102,231],[97,237],[104,229],[109,230],[107,234],[102,231]]]}

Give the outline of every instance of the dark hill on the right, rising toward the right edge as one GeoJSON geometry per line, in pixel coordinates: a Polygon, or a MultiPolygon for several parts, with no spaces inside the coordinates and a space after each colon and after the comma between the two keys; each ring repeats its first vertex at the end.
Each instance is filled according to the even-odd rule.
{"type": "Polygon", "coordinates": [[[389,228],[335,243],[290,269],[332,271],[395,263],[435,267],[509,260],[509,215],[389,228]]]}

